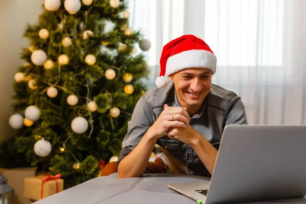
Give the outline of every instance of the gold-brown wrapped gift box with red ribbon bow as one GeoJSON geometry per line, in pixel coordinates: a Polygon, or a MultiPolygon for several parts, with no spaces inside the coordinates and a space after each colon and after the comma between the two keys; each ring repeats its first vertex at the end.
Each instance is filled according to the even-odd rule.
{"type": "MultiPolygon", "coordinates": [[[[51,176],[52,177],[52,176],[51,176]]],[[[55,176],[60,177],[60,176],[55,176]]],[[[24,179],[23,196],[32,200],[40,200],[64,190],[63,179],[50,179],[46,175],[38,175],[24,179]],[[45,178],[45,179],[44,179],[45,178]],[[46,181],[44,181],[46,180],[46,181]]]]}

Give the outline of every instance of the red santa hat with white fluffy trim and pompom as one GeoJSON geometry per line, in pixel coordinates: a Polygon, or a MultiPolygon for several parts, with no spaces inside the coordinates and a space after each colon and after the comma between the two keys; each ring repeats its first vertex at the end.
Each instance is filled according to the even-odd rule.
{"type": "Polygon", "coordinates": [[[216,72],[217,58],[206,42],[194,35],[183,35],[167,43],[160,59],[161,72],[155,84],[162,89],[167,86],[168,75],[176,71],[201,67],[216,72]]]}

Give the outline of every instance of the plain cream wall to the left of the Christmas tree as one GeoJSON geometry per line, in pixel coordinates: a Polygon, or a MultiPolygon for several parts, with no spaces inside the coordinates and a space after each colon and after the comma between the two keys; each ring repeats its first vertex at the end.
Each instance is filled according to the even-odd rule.
{"type": "Polygon", "coordinates": [[[42,5],[43,0],[0,1],[0,142],[15,134],[8,120],[12,114],[14,74],[25,63],[19,54],[22,47],[29,46],[22,35],[27,22],[38,22],[42,5]]]}

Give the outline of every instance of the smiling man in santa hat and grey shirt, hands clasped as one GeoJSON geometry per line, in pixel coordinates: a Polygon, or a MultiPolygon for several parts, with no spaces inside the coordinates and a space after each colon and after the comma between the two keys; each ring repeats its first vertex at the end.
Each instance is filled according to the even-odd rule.
{"type": "Polygon", "coordinates": [[[225,125],[247,124],[240,97],[212,85],[216,62],[210,47],[193,35],[164,46],[157,87],[139,99],[129,121],[117,161],[119,178],[142,176],[148,167],[211,176],[225,125]],[[163,156],[148,163],[155,144],[163,156]]]}

